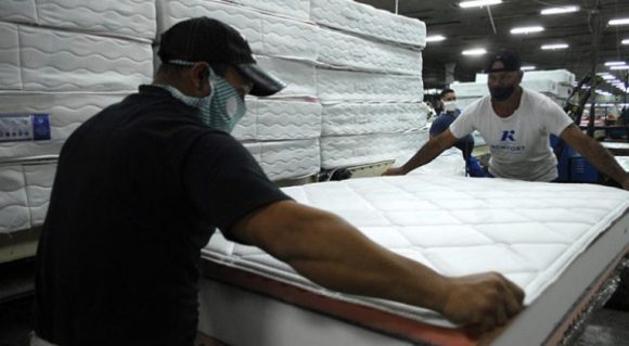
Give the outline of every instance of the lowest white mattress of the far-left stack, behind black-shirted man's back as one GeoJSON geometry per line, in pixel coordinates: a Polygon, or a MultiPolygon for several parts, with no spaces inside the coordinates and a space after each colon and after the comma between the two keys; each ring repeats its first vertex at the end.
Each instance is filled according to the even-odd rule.
{"type": "Polygon", "coordinates": [[[56,164],[0,165],[0,233],[43,223],[56,164]]]}

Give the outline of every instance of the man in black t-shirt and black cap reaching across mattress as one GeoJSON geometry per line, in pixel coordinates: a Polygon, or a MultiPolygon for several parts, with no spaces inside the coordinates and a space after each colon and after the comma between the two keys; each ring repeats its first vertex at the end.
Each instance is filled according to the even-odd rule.
{"type": "Polygon", "coordinates": [[[37,254],[34,342],[192,346],[197,264],[215,228],[332,290],[482,330],[521,310],[522,290],[500,274],[439,275],[269,181],[228,132],[245,94],[283,85],[233,28],[181,22],[158,55],[153,85],[86,121],[61,152],[37,254]]]}

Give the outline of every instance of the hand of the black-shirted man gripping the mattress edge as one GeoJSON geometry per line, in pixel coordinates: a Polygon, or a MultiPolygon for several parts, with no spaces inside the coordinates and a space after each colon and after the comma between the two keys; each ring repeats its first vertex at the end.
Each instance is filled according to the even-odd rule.
{"type": "Polygon", "coordinates": [[[499,273],[449,279],[444,316],[487,332],[522,310],[524,292],[499,273]]]}

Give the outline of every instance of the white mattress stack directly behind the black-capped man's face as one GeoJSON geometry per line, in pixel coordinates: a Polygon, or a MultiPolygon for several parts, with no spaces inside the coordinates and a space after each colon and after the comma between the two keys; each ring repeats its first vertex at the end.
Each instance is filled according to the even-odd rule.
{"type": "Polygon", "coordinates": [[[309,22],[310,0],[157,1],[157,28],[196,16],[235,27],[258,64],[287,87],[272,98],[247,98],[247,113],[233,136],[256,157],[271,180],[320,171],[321,104],[314,62],[319,27],[309,22]]]}

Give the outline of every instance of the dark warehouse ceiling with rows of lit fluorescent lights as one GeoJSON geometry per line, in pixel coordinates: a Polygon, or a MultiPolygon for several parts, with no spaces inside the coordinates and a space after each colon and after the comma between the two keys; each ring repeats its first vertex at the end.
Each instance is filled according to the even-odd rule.
{"type": "MultiPolygon", "coordinates": [[[[374,8],[396,12],[396,0],[358,0],[374,8]]],[[[535,65],[539,69],[565,68],[580,79],[592,69],[594,61],[592,29],[600,23],[600,49],[598,71],[607,71],[603,65],[609,61],[629,64],[629,25],[611,26],[614,18],[629,17],[629,0],[503,0],[502,3],[485,7],[459,7],[461,0],[398,0],[401,15],[415,17],[426,23],[428,36],[442,35],[446,40],[428,42],[423,52],[424,86],[446,86],[446,63],[455,63],[454,80],[473,81],[475,74],[484,68],[487,55],[462,55],[463,50],[485,48],[488,52],[500,49],[515,50],[523,65],[535,65]],[[574,13],[541,15],[547,8],[578,5],[574,13]],[[595,9],[599,9],[598,11],[595,9]],[[598,13],[598,14],[593,14],[598,13]],[[526,35],[511,34],[514,27],[542,26],[543,31],[526,35]],[[542,44],[567,43],[564,50],[542,50],[542,44]]],[[[627,71],[613,71],[625,78],[627,71]]],[[[613,88],[609,87],[609,90],[613,88]]]]}

